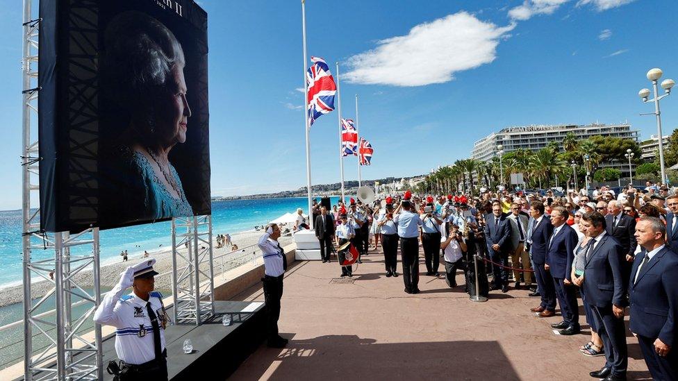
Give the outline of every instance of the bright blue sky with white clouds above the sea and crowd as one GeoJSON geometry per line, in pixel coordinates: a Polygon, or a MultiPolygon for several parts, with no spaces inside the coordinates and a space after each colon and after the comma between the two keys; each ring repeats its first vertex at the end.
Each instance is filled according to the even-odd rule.
{"type": "MultiPolygon", "coordinates": [[[[213,195],[306,184],[299,1],[201,0],[209,15],[213,195]]],[[[0,209],[20,207],[21,1],[0,0],[0,209]]],[[[506,126],[629,121],[656,133],[636,95],[678,77],[673,0],[307,0],[309,56],[342,71],[342,116],[374,146],[363,178],[413,176],[466,158],[506,126]],[[340,4],[340,8],[337,5],[340,4]],[[656,32],[654,32],[656,31],[656,32]],[[347,81],[350,80],[350,81],[347,81]]],[[[663,101],[664,133],[678,96],[663,101]]],[[[311,130],[313,183],[339,180],[338,121],[311,130]]],[[[345,160],[348,180],[356,159],[345,160]]]]}

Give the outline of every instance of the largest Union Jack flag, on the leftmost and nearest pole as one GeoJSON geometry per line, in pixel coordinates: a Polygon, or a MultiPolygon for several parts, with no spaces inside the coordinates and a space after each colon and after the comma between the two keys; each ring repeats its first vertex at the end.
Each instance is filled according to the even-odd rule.
{"type": "Polygon", "coordinates": [[[334,110],[334,96],[337,93],[337,85],[329,72],[325,60],[311,56],[313,65],[306,71],[306,84],[308,85],[308,126],[313,126],[315,119],[320,115],[334,110]]]}

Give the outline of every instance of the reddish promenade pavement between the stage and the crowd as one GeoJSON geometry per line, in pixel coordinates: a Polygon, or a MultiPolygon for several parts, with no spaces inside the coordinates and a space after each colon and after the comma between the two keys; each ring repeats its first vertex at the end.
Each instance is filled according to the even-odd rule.
{"type": "MultiPolygon", "coordinates": [[[[450,289],[442,276],[424,275],[420,252],[421,293],[410,295],[402,276],[386,278],[380,252],[370,251],[363,262],[347,283],[336,282],[334,257],[290,266],[279,321],[288,347],[261,346],[232,379],[593,380],[588,372],[604,365],[604,357],[577,349],[590,338],[581,299],[583,332],[559,336],[550,324],[561,321],[560,314],[531,313],[539,302],[528,291],[491,291],[486,303],[474,303],[463,290],[461,271],[461,286],[450,289]]],[[[237,299],[263,301],[261,286],[237,299]]],[[[650,380],[638,341],[627,336],[629,380],[650,380]]]]}

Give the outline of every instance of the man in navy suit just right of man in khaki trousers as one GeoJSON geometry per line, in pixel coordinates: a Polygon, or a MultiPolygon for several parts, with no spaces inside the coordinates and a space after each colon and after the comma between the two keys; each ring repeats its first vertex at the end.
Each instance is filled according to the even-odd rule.
{"type": "Polygon", "coordinates": [[[544,215],[544,204],[541,201],[533,201],[530,205],[532,223],[528,237],[531,240],[530,255],[532,258],[534,278],[541,296],[539,307],[531,308],[531,312],[538,312],[540,317],[549,317],[556,314],[556,290],[553,286],[553,278],[546,271],[546,253],[548,243],[553,233],[553,225],[549,217],[544,215]]]}

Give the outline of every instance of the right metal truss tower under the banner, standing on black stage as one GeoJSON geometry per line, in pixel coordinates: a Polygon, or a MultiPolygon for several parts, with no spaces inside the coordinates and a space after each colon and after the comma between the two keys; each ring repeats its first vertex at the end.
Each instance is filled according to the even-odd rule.
{"type": "Polygon", "coordinates": [[[172,219],[174,322],[195,324],[213,318],[212,216],[172,219]]]}

